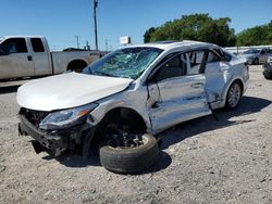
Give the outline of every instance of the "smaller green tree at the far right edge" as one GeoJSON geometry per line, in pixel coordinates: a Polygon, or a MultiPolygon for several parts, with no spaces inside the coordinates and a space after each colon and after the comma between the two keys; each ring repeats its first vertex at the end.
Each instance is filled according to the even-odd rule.
{"type": "Polygon", "coordinates": [[[269,24],[255,26],[237,35],[237,46],[272,44],[272,21],[269,24]]]}

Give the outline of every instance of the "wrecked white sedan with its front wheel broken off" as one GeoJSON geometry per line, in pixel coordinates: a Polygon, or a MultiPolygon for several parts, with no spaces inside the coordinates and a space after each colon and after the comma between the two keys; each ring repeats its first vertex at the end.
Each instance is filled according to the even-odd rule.
{"type": "Polygon", "coordinates": [[[37,151],[88,155],[100,142],[101,164],[138,171],[158,157],[158,133],[182,122],[235,109],[248,67],[226,50],[197,41],[126,47],[83,73],[33,80],[20,87],[21,135],[37,151]]]}

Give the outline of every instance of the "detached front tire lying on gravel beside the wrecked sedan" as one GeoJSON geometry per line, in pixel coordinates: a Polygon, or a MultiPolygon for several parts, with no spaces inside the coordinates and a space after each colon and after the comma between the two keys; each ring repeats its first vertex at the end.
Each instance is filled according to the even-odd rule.
{"type": "Polygon", "coordinates": [[[103,142],[99,150],[101,165],[111,171],[132,174],[141,171],[160,157],[157,139],[148,133],[141,136],[144,144],[135,148],[113,148],[103,142]]]}

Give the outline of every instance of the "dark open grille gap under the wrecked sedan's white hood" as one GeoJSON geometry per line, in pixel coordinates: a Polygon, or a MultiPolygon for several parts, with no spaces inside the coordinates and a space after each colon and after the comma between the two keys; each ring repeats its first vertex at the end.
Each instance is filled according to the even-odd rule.
{"type": "Polygon", "coordinates": [[[32,123],[36,128],[38,128],[40,122],[42,122],[42,119],[48,116],[49,112],[34,111],[21,107],[18,114],[24,115],[29,123],[32,123]]]}

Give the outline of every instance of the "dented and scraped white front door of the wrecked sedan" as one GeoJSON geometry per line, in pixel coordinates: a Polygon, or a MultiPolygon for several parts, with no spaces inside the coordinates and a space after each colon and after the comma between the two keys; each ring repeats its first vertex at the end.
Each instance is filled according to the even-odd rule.
{"type": "Polygon", "coordinates": [[[210,114],[201,71],[203,52],[177,54],[148,79],[148,113],[154,132],[210,114]],[[189,58],[196,56],[195,63],[189,58]]]}

